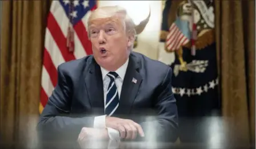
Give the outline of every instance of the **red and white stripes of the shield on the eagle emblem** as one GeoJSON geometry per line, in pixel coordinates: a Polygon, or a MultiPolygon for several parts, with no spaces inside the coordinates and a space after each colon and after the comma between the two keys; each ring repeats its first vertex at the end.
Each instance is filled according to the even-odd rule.
{"type": "Polygon", "coordinates": [[[171,24],[169,34],[166,37],[166,48],[168,51],[175,51],[188,42],[189,39],[182,33],[176,23],[171,24]]]}

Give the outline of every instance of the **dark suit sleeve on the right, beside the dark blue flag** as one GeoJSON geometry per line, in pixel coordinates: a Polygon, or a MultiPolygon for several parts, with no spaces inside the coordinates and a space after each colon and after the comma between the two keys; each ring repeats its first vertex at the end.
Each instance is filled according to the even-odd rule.
{"type": "Polygon", "coordinates": [[[169,68],[162,85],[157,90],[156,119],[140,123],[145,132],[145,138],[141,138],[143,140],[175,142],[178,138],[178,111],[171,90],[171,76],[172,71],[169,68]]]}

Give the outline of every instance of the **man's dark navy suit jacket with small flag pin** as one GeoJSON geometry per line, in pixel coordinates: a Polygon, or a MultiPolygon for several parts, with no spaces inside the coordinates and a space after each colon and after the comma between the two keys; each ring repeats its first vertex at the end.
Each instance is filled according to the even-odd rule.
{"type": "MultiPolygon", "coordinates": [[[[131,52],[113,117],[141,124],[145,137],[137,140],[177,139],[178,113],[171,75],[168,65],[131,52]]],[[[48,139],[77,140],[82,127],[93,127],[94,117],[99,115],[104,115],[103,82],[93,55],[59,65],[58,84],[39,118],[38,132],[48,139]]]]}

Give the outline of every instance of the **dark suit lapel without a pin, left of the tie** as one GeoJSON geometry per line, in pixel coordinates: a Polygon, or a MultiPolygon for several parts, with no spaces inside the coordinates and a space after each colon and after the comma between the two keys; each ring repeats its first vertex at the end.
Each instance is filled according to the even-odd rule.
{"type": "Polygon", "coordinates": [[[104,94],[101,68],[94,58],[91,59],[89,71],[85,72],[85,85],[93,113],[104,114],[104,94]],[[94,111],[96,110],[96,111],[94,111]]]}

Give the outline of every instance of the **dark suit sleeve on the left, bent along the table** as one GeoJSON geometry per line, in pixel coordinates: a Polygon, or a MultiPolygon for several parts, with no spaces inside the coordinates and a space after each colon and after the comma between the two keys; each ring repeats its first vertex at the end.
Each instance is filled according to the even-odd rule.
{"type": "Polygon", "coordinates": [[[58,83],[39,117],[37,131],[43,140],[77,140],[82,127],[93,127],[94,117],[71,117],[71,81],[66,80],[61,65],[58,83]]]}

